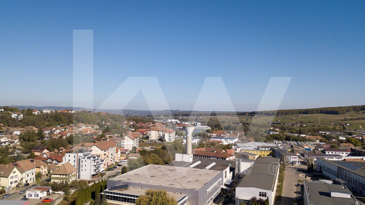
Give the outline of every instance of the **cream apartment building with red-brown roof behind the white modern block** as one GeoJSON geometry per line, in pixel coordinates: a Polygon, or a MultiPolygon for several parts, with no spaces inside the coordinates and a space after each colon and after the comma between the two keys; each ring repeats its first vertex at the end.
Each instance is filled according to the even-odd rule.
{"type": "Polygon", "coordinates": [[[91,149],[92,155],[101,157],[101,162],[103,163],[101,168],[107,168],[116,162],[116,143],[114,141],[108,140],[95,144],[91,149]]]}

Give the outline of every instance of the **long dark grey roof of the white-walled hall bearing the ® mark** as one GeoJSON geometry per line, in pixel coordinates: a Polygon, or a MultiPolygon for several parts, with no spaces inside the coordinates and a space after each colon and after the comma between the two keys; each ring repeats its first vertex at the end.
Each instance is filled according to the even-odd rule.
{"type": "Polygon", "coordinates": [[[276,180],[276,171],[279,164],[278,158],[258,157],[255,165],[238,183],[237,187],[255,187],[264,190],[272,190],[276,180]]]}

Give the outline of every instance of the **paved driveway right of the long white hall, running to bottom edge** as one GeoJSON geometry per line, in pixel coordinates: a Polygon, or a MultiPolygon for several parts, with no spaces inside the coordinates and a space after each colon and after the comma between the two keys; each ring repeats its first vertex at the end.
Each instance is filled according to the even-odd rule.
{"type": "Polygon", "coordinates": [[[301,195],[301,187],[296,186],[296,184],[298,183],[298,179],[301,180],[301,184],[303,184],[304,181],[307,181],[306,178],[304,178],[306,170],[307,165],[288,165],[285,168],[281,205],[291,205],[294,203],[294,198],[301,195]]]}

